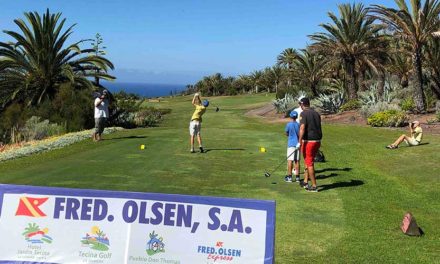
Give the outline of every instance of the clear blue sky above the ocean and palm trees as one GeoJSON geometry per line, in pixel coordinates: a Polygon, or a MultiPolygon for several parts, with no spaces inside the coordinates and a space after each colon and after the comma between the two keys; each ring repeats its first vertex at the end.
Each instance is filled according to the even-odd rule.
{"type": "MultiPolygon", "coordinates": [[[[340,0],[0,0],[0,29],[27,11],[62,12],[71,41],[100,33],[120,82],[188,84],[216,72],[248,74],[303,48],[340,0]]],[[[395,6],[392,0],[365,0],[395,6]]],[[[0,41],[8,40],[1,32],[0,41]]]]}

